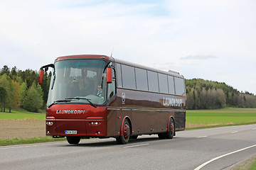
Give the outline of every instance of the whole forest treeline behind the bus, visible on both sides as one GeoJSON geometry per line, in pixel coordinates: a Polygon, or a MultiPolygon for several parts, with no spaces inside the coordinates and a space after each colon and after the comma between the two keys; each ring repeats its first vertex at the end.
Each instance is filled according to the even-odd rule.
{"type": "MultiPolygon", "coordinates": [[[[38,112],[46,109],[50,78],[52,73],[45,72],[43,84],[38,84],[38,71],[6,65],[0,69],[0,108],[1,112],[24,108],[38,112]]],[[[240,92],[232,86],[218,81],[186,79],[186,108],[215,109],[225,107],[256,108],[256,96],[240,92]]]]}

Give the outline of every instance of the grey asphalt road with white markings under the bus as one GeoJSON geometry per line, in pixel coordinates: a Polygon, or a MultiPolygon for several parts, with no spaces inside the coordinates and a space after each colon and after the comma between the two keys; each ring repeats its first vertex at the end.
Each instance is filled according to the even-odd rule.
{"type": "Polygon", "coordinates": [[[0,169],[231,169],[256,155],[256,125],[177,132],[173,140],[143,135],[0,147],[0,169]]]}

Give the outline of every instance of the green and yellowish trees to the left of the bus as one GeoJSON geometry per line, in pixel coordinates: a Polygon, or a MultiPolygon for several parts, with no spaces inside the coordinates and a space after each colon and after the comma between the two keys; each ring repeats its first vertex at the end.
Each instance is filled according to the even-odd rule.
{"type": "Polygon", "coordinates": [[[25,71],[6,65],[0,69],[0,108],[11,113],[18,107],[27,111],[38,112],[46,108],[51,72],[45,73],[43,84],[38,84],[38,72],[32,69],[25,71]]]}

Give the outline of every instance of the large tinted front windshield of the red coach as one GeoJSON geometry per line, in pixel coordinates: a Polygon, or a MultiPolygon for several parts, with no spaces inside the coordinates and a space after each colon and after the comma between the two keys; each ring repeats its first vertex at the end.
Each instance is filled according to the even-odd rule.
{"type": "Polygon", "coordinates": [[[103,60],[60,60],[50,81],[48,106],[54,103],[88,103],[102,105],[106,101],[107,62],[103,60]]]}

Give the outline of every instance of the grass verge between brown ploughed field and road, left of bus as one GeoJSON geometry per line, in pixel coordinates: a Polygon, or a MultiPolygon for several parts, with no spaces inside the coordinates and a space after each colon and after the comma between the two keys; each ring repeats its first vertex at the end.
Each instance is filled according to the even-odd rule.
{"type": "Polygon", "coordinates": [[[53,137],[33,137],[29,139],[14,138],[12,140],[0,140],[0,146],[7,145],[22,145],[22,144],[33,144],[33,143],[43,143],[43,142],[56,142],[64,141],[66,138],[53,138],[53,137]]]}

